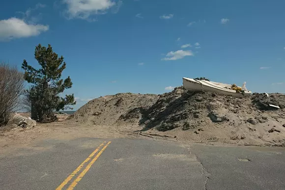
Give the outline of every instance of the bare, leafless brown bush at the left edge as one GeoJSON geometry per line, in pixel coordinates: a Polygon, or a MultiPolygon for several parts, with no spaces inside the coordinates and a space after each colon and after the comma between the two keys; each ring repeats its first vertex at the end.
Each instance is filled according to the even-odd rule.
{"type": "Polygon", "coordinates": [[[20,105],[24,91],[23,73],[16,66],[0,63],[0,126],[7,125],[10,114],[20,105]]]}

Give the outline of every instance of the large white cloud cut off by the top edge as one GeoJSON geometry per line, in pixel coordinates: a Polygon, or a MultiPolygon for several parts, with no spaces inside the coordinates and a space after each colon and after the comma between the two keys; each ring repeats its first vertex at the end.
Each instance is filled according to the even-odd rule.
{"type": "Polygon", "coordinates": [[[67,5],[66,13],[69,19],[88,19],[91,15],[105,14],[116,5],[113,0],[63,0],[63,3],[67,5]]]}

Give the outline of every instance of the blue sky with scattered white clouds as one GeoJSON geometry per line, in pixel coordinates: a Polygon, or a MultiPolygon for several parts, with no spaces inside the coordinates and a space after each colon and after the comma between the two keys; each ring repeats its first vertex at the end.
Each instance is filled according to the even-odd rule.
{"type": "Polygon", "coordinates": [[[0,6],[0,60],[63,55],[80,108],[118,92],[164,93],[182,77],[285,93],[284,0],[15,0],[0,6]],[[82,3],[84,2],[84,3],[82,3]]]}

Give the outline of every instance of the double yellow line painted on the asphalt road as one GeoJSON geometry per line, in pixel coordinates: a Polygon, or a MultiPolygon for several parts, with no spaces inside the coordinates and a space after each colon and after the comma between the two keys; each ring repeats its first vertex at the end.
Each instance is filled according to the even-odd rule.
{"type": "MultiPolygon", "coordinates": [[[[58,187],[56,190],[62,190],[62,188],[83,168],[84,164],[87,163],[89,160],[92,159],[92,157],[101,149],[102,146],[106,141],[104,141],[102,144],[96,148],[89,156],[88,158],[83,161],[58,187]]],[[[103,153],[103,151],[107,148],[107,146],[111,143],[109,141],[101,150],[100,152],[86,165],[85,169],[78,175],[78,177],[70,184],[70,186],[67,188],[67,190],[73,190],[75,186],[78,184],[78,182],[83,178],[83,176],[87,173],[87,171],[90,169],[92,164],[98,159],[98,157],[103,153]]]]}

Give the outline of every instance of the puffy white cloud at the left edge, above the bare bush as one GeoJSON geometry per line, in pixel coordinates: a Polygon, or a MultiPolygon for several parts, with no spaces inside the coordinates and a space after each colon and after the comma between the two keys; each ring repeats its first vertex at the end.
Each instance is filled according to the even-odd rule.
{"type": "Polygon", "coordinates": [[[49,29],[48,25],[28,24],[18,18],[0,20],[0,40],[37,36],[49,29]]]}

